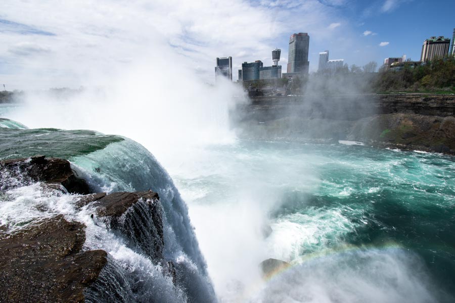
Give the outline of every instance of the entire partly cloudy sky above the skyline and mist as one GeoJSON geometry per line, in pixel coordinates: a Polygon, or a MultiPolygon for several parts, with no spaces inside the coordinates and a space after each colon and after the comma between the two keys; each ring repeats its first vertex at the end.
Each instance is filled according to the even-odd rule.
{"type": "Polygon", "coordinates": [[[153,70],[157,62],[163,77],[178,65],[213,83],[215,58],[229,56],[237,80],[243,62],[271,65],[275,47],[285,72],[297,32],[310,36],[310,72],[325,50],[349,66],[420,60],[426,38],[452,37],[453,12],[448,0],[2,0],[0,84],[102,85],[132,64],[153,70]]]}

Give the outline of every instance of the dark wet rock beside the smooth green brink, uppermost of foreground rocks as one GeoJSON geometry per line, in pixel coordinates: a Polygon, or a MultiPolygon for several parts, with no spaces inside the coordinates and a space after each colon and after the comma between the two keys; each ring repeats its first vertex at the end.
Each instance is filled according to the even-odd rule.
{"type": "MultiPolygon", "coordinates": [[[[90,189],[88,184],[78,178],[71,169],[70,163],[64,159],[50,158],[45,156],[35,156],[30,158],[10,159],[0,162],[2,174],[9,174],[16,180],[41,181],[47,184],[61,184],[70,193],[88,194],[90,189]]],[[[6,179],[2,175],[2,179],[6,179]]],[[[7,189],[12,184],[2,182],[0,188],[7,189]]]]}

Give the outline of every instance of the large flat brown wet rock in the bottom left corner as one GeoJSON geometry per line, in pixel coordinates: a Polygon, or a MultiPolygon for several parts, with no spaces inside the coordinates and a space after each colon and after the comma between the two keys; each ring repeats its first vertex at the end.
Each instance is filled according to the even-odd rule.
{"type": "Polygon", "coordinates": [[[81,251],[84,228],[59,215],[0,235],[1,301],[83,302],[107,262],[104,250],[81,251]]]}

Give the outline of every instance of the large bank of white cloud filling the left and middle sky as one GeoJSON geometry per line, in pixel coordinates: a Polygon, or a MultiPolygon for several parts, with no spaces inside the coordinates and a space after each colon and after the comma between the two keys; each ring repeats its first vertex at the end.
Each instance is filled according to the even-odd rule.
{"type": "MultiPolygon", "coordinates": [[[[332,1],[330,5],[342,3],[332,1]]],[[[98,77],[92,78],[100,79],[100,74],[120,73],[125,66],[144,58],[152,62],[163,60],[159,52],[178,54],[185,68],[197,69],[197,77],[210,83],[214,81],[216,57],[233,56],[237,66],[244,61],[269,58],[271,49],[278,46],[285,62],[288,38],[294,32],[308,32],[310,48],[323,51],[330,46],[327,41],[339,39],[329,29],[343,25],[343,38],[348,40],[343,41],[338,52],[339,56],[348,57],[342,53],[344,45],[346,54],[350,54],[348,45],[360,42],[355,40],[349,26],[345,26],[348,23],[339,15],[339,10],[326,4],[328,2],[322,4],[317,0],[264,0],[259,4],[233,0],[226,10],[211,0],[99,0],[96,4],[4,0],[2,19],[25,25],[22,30],[33,28],[33,31],[52,35],[30,36],[13,29],[0,32],[0,57],[11,65],[21,66],[21,74],[18,70],[9,70],[9,74],[15,76],[6,76],[6,81],[10,77],[18,86],[64,85],[52,81],[76,87],[89,85],[85,83],[91,79],[87,75],[96,74],[98,77]],[[327,20],[337,22],[328,27],[327,20]],[[27,41],[33,41],[34,46],[20,46],[27,41]],[[41,59],[32,61],[34,56],[31,55],[38,53],[41,59]],[[48,77],[36,76],[36,81],[31,81],[36,74],[48,77]]],[[[269,61],[271,63],[271,58],[269,61]]],[[[309,61],[313,68],[312,62],[317,58],[309,58],[309,61]]]]}

